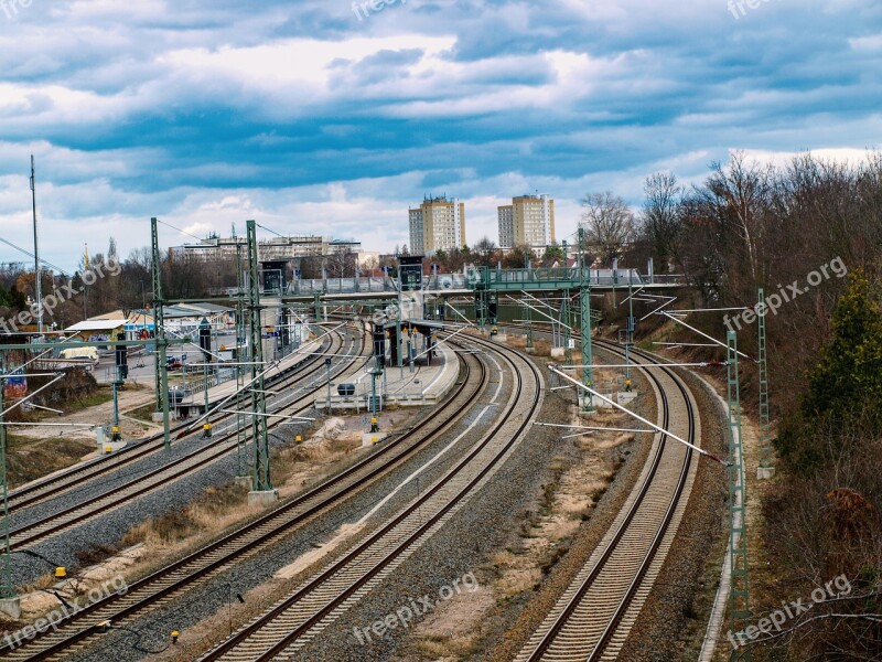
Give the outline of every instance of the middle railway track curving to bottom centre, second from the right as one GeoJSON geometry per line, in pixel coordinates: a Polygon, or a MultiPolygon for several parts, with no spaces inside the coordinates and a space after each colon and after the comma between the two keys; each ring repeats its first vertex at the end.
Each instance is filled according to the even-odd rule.
{"type": "Polygon", "coordinates": [[[490,430],[402,512],[200,660],[287,660],[388,577],[490,479],[538,413],[542,377],[519,353],[472,340],[495,350],[514,378],[513,393],[490,430]]]}

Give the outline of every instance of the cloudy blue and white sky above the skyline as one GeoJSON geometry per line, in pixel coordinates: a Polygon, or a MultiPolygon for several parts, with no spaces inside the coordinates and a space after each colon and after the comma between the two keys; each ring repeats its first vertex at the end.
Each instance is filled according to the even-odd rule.
{"type": "Polygon", "coordinates": [[[32,246],[31,153],[71,269],[150,216],[387,250],[426,193],[465,201],[471,243],[534,191],[568,234],[658,170],[882,145],[879,0],[728,1],[0,0],[0,237],[32,246]]]}

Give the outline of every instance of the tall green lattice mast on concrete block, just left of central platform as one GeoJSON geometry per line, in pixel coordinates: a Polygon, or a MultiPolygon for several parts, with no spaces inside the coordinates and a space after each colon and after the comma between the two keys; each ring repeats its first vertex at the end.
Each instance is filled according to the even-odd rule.
{"type": "Polygon", "coordinates": [[[255,467],[249,503],[278,500],[269,472],[269,435],[267,397],[263,388],[263,340],[261,334],[260,265],[257,255],[257,228],[248,221],[248,332],[251,344],[251,433],[255,439],[255,467]]]}

